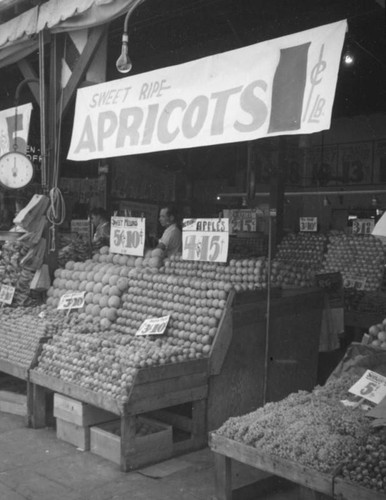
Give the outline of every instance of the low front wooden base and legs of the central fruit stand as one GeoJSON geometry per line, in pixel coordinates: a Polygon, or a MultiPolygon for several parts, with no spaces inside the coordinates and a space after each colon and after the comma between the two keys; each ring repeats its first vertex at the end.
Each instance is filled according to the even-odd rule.
{"type": "MultiPolygon", "coordinates": [[[[137,465],[134,439],[136,415],[160,408],[192,403],[191,417],[189,419],[186,417],[186,421],[190,421],[190,437],[173,443],[173,453],[180,453],[185,449],[200,448],[205,445],[207,440],[205,425],[208,390],[206,359],[139,370],[126,403],[120,403],[114,398],[84,389],[73,383],[63,382],[36,370],[30,372],[30,384],[30,392],[33,395],[30,401],[32,425],[35,428],[43,427],[46,423],[45,396],[47,390],[118,415],[121,418],[121,469],[123,471],[128,471],[137,465]]],[[[151,460],[150,457],[149,459],[151,460]]]]}

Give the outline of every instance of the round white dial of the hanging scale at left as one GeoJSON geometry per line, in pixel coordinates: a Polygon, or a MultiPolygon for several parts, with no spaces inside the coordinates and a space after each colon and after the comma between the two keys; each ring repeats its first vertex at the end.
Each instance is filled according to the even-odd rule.
{"type": "Polygon", "coordinates": [[[9,189],[20,189],[31,182],[34,169],[27,156],[16,151],[0,158],[0,182],[9,189]]]}

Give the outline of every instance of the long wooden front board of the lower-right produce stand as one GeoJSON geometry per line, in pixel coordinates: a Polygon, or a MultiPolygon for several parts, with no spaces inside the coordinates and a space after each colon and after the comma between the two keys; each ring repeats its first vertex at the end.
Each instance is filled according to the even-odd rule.
{"type": "Polygon", "coordinates": [[[333,474],[309,469],[301,464],[260,452],[252,446],[210,433],[209,446],[215,453],[220,453],[257,469],[283,477],[294,483],[311,488],[319,493],[333,495],[333,474]]]}

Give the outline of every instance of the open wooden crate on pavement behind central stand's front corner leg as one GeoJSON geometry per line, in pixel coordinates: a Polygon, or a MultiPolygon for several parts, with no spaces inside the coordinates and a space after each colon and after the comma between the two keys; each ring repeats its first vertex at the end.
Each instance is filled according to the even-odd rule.
{"type": "MultiPolygon", "coordinates": [[[[130,443],[131,453],[127,457],[131,469],[160,462],[173,454],[172,427],[157,420],[137,417],[137,422],[147,424],[154,432],[136,434],[130,443]]],[[[90,451],[121,464],[121,420],[90,427],[90,451]]]]}

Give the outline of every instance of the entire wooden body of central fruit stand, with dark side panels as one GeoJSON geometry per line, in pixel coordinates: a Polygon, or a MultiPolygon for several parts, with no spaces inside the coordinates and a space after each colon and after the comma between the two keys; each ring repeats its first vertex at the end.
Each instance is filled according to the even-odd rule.
{"type": "Polygon", "coordinates": [[[143,413],[172,425],[173,455],[201,448],[230,416],[314,387],[322,307],[316,289],[272,296],[267,336],[266,292],[231,292],[209,355],[139,369],[127,402],[32,369],[31,425],[46,425],[46,393],[53,391],[120,417],[124,471],[134,466],[134,421],[143,413]]]}

